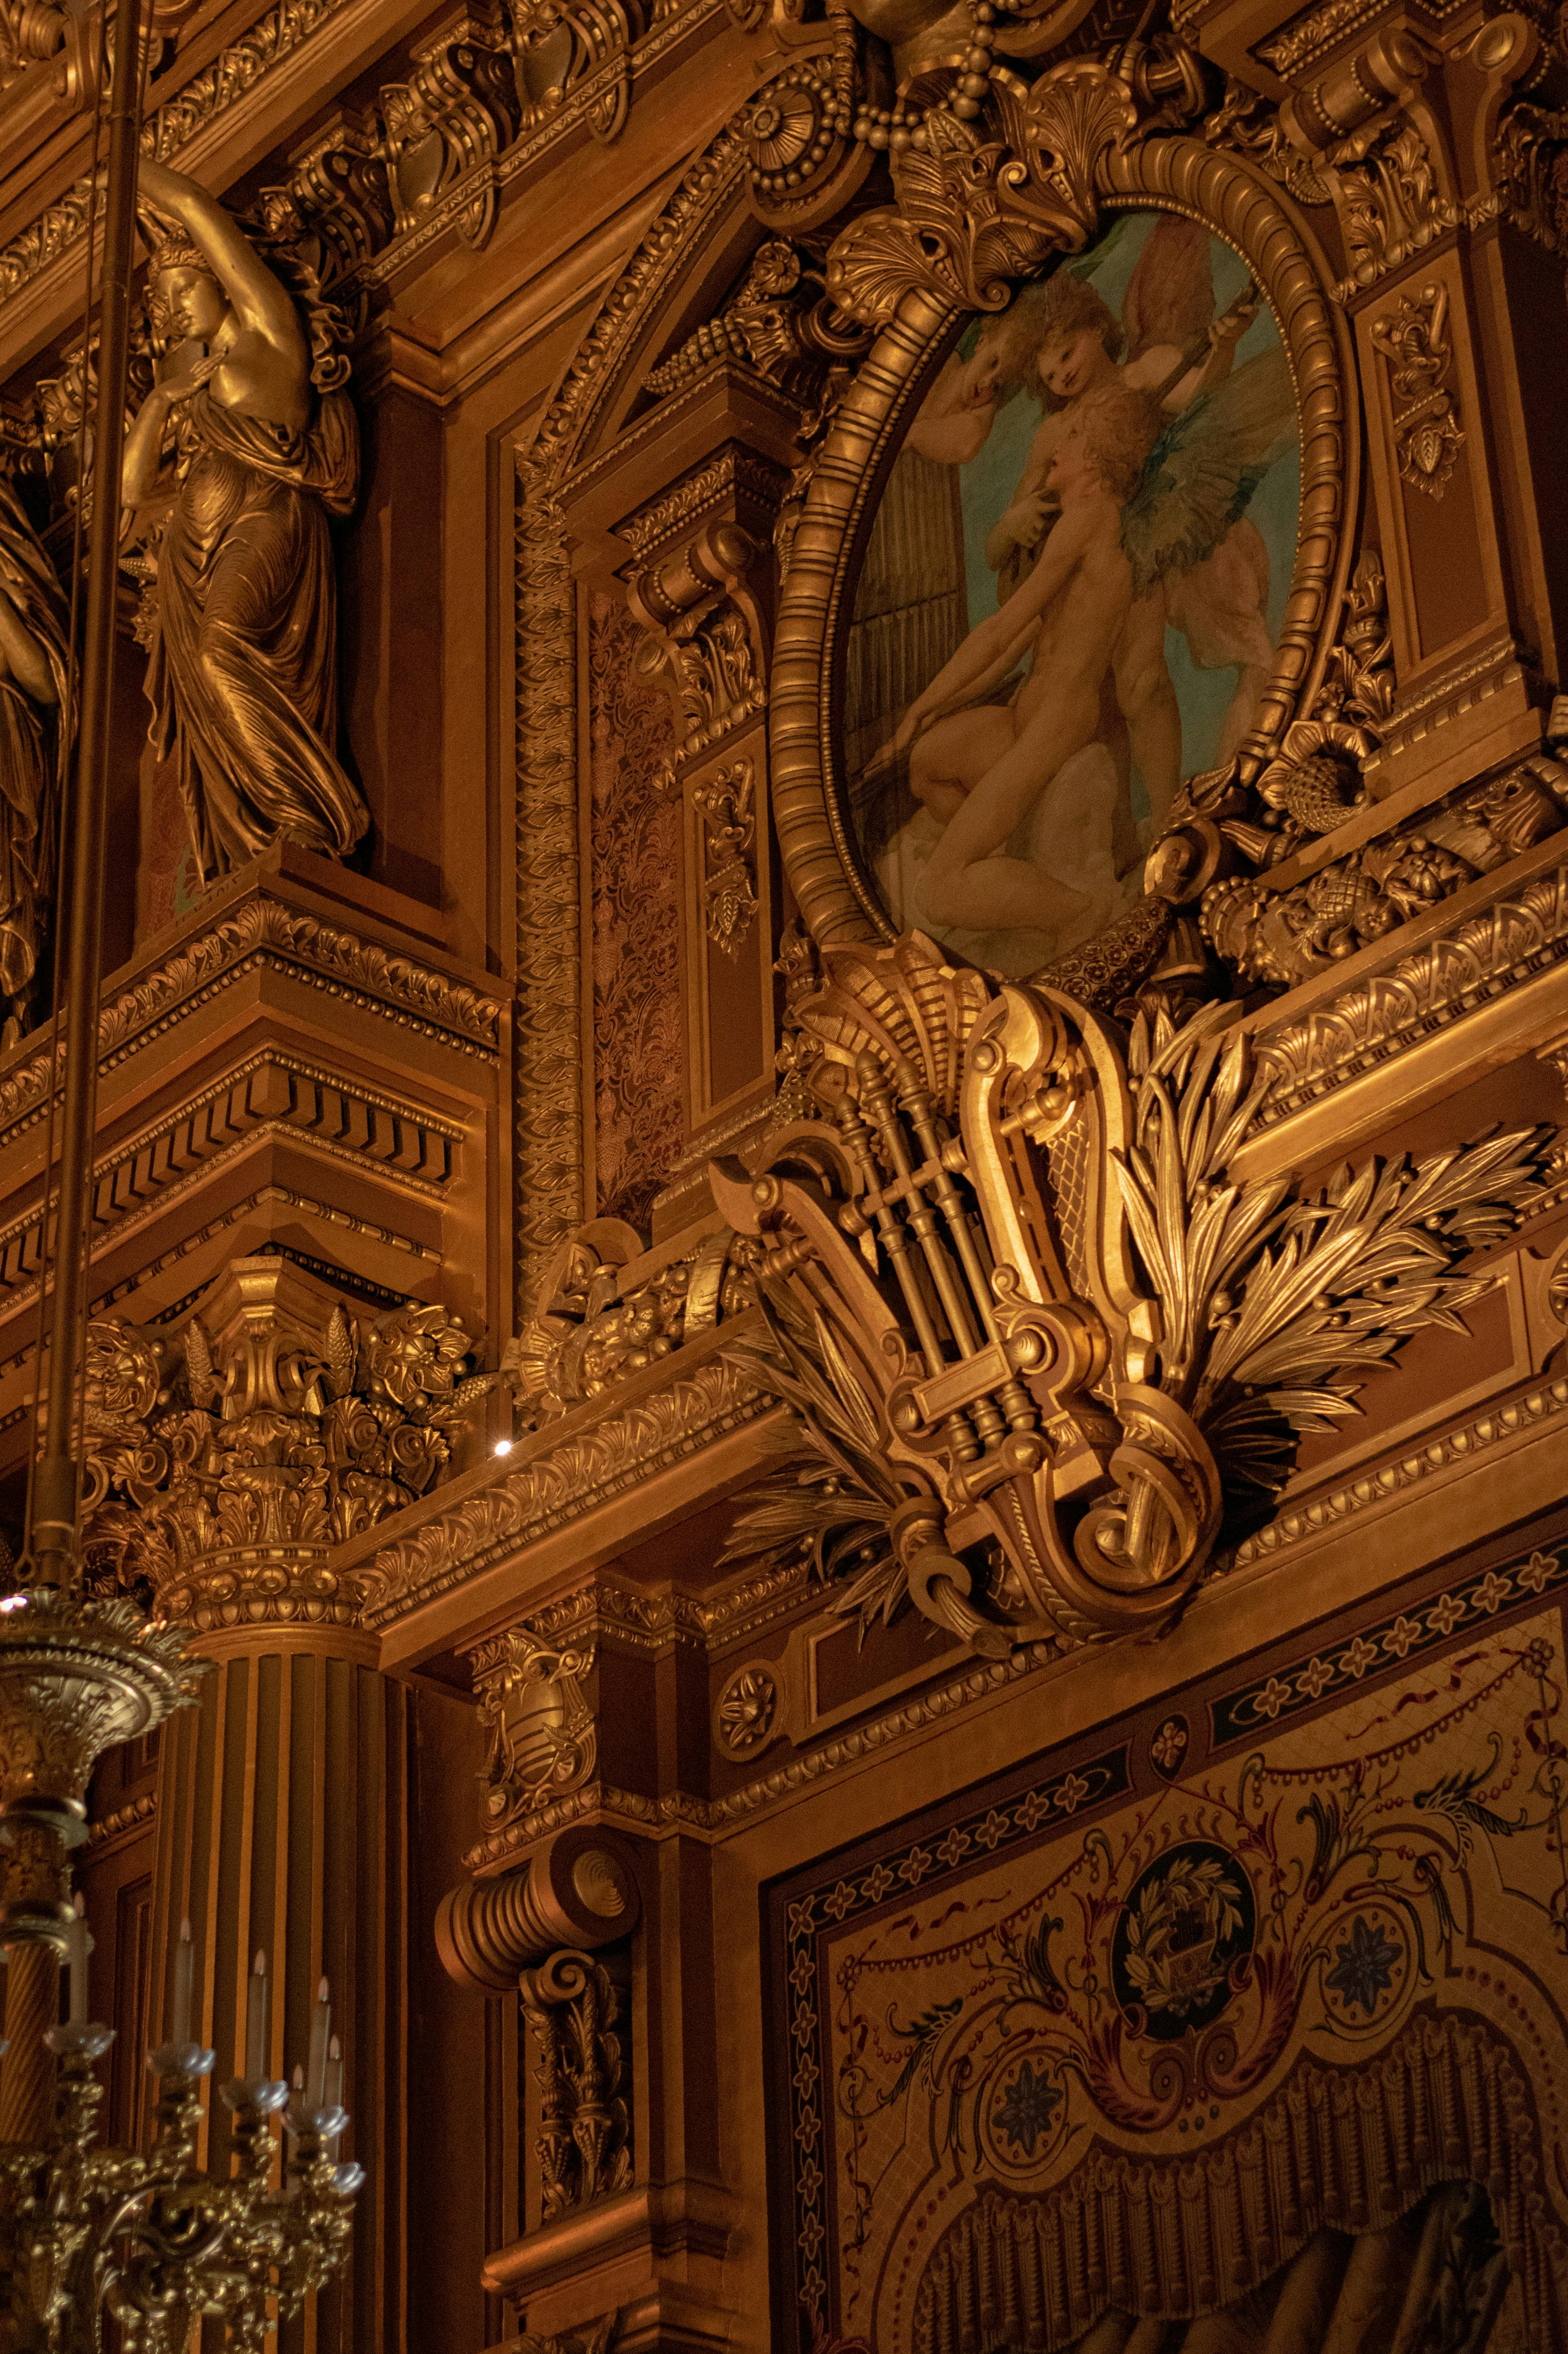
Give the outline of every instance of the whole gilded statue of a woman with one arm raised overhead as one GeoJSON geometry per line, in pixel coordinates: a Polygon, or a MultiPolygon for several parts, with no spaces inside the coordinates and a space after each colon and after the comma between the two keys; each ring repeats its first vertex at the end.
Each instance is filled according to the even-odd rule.
{"type": "Polygon", "coordinates": [[[179,765],[202,876],[278,838],[341,859],[370,812],[334,753],[337,588],[327,516],[358,487],[358,428],[327,306],[285,282],[205,188],[141,160],[158,214],[162,358],[129,431],[125,504],[174,504],[158,544],[146,692],[179,765]]]}

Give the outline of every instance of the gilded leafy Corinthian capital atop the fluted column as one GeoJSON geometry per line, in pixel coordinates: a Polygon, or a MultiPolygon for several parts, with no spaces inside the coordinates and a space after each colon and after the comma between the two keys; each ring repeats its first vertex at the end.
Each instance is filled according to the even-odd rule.
{"type": "Polygon", "coordinates": [[[87,1325],[82,1530],[99,1580],[198,1627],[348,1624],[327,1551],[424,1495],[494,1375],[438,1304],[351,1316],[271,1257],[235,1259],[214,1328],[87,1325]]]}

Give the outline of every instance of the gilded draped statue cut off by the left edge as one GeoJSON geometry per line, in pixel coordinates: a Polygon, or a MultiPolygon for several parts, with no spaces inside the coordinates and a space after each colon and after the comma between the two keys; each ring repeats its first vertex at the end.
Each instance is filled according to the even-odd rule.
{"type": "Polygon", "coordinates": [[[66,600],[0,476],[0,1045],[28,1029],[54,906],[71,678],[66,600]]]}

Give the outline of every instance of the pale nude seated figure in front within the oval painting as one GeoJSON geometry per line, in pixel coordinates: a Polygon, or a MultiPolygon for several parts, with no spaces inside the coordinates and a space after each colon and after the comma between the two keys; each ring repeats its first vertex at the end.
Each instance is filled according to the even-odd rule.
{"type": "MultiPolygon", "coordinates": [[[[888,746],[909,756],[916,798],[944,822],[921,880],[937,925],[1050,932],[1062,949],[1102,916],[1088,892],[1008,845],[1099,732],[1104,678],[1135,593],[1121,518],[1158,426],[1158,407],[1125,384],[1078,403],[1045,478],[1059,513],[1043,556],[970,631],[888,746]],[[1024,657],[1029,671],[1012,701],[986,704],[1024,657]]],[[[1062,836],[1083,831],[1076,812],[1050,817],[1062,836]]],[[[1109,810],[1102,831],[1109,857],[1109,810]]]]}

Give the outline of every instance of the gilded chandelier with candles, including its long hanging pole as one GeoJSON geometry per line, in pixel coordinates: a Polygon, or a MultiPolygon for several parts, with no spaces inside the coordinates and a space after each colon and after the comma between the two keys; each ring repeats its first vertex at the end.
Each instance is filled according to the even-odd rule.
{"type": "MultiPolygon", "coordinates": [[[[104,2314],[122,2354],[184,2354],[198,2321],[231,2347],[261,2349],[348,2253],[363,2168],[337,2161],[348,2123],[344,2057],[327,1982],[294,2081],[266,2074],[268,1973],[250,1977],[245,2055],[219,2088],[228,2159],[198,2166],[202,2079],[214,2053],[193,2039],[195,1944],[174,1949],[170,2041],[148,2053],[158,2081],[151,2140],[97,2140],[97,2064],[113,2029],[87,2017],[89,1933],[71,1900],[71,1850],[87,1836],[87,1782],[99,1756],[195,1700],[205,1662],[186,1629],[122,1596],[89,1591],[80,1544],[80,1368],[87,1316],[92,1153],[97,1128],[101,909],[106,871],[108,709],[113,676],[120,459],[129,348],[141,40],[146,0],[118,0],[104,280],[97,339],[92,560],[85,596],[78,758],[61,847],[68,923],[59,949],[59,1184],[40,1302],[35,1455],[19,1589],[0,1601],[0,1850],[5,1886],[5,2043],[0,2046],[0,2354],[101,2354],[104,2314]],[[47,1281],[52,1276],[52,1283],[47,1281]],[[42,1436],[42,1455],[38,1438],[42,1436]],[[71,2017],[59,2024],[59,1973],[71,1963],[71,2017]]],[[[89,240],[92,250],[92,240],[89,240]]]]}

